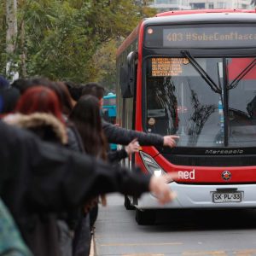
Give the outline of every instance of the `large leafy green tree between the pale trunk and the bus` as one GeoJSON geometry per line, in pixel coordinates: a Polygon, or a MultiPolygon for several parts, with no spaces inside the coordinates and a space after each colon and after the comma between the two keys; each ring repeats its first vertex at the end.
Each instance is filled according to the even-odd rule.
{"type": "MultiPolygon", "coordinates": [[[[22,8],[23,7],[23,8],[22,8]]],[[[30,1],[23,6],[26,71],[50,79],[90,80],[93,55],[138,20],[131,1],[30,1]],[[131,23],[125,24],[126,15],[131,23]]]]}

